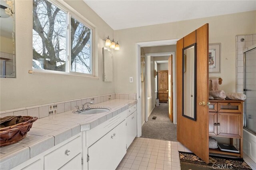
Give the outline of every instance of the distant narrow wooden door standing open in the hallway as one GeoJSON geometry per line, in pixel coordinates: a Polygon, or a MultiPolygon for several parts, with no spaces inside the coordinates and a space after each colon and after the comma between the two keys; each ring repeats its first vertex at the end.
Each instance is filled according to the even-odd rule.
{"type": "Polygon", "coordinates": [[[173,82],[172,82],[172,55],[168,59],[168,100],[169,100],[169,118],[173,122],[173,82]]]}

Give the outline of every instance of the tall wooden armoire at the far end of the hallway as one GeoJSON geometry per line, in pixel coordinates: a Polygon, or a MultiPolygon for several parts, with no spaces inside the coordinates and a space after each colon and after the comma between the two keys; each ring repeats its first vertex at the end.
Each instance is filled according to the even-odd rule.
{"type": "Polygon", "coordinates": [[[158,71],[158,99],[168,102],[168,70],[158,71]]]}

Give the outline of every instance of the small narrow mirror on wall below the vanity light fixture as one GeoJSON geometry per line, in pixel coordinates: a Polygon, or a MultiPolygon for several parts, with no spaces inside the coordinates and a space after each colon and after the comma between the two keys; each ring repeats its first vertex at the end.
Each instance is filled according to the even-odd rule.
{"type": "Polygon", "coordinates": [[[104,82],[113,81],[113,55],[112,51],[106,47],[102,48],[103,59],[104,59],[104,82]]]}

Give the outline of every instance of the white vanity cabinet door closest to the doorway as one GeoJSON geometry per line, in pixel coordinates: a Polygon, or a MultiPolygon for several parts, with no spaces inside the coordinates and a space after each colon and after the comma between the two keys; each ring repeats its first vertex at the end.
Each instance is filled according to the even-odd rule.
{"type": "Polygon", "coordinates": [[[127,123],[127,137],[126,144],[127,148],[131,145],[134,138],[137,136],[137,111],[134,111],[131,115],[126,118],[127,123]]]}

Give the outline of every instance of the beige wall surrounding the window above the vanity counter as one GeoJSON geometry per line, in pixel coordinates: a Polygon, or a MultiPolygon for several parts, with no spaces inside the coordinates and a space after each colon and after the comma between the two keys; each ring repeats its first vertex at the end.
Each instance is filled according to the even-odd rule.
{"type": "Polygon", "coordinates": [[[114,82],[103,82],[104,37],[114,31],[82,0],[66,0],[98,29],[98,76],[88,78],[60,74],[28,74],[32,70],[32,0],[15,2],[17,78],[2,78],[0,110],[42,105],[114,92],[114,82]]]}

